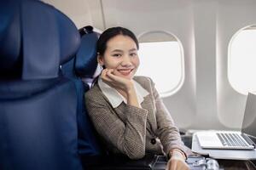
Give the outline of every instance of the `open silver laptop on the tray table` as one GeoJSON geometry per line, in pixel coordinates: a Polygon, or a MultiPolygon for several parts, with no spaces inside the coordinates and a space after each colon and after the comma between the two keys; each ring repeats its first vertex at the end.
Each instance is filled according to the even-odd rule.
{"type": "Polygon", "coordinates": [[[256,141],[256,95],[248,94],[241,132],[202,131],[195,133],[203,149],[254,150],[256,141]]]}

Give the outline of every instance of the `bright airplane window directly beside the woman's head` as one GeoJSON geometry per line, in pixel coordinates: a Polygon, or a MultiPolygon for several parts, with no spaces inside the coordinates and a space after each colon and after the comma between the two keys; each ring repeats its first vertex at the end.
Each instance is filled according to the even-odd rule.
{"type": "MultiPolygon", "coordinates": [[[[139,39],[140,40],[140,39],[139,39]]],[[[161,97],[177,92],[183,83],[183,50],[180,42],[140,42],[141,65],[137,76],[151,77],[161,97]]]]}

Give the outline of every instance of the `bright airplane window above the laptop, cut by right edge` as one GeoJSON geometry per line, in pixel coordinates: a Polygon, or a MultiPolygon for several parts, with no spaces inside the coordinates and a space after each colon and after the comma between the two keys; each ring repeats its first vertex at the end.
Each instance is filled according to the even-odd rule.
{"type": "Polygon", "coordinates": [[[241,94],[256,91],[256,26],[238,31],[230,41],[228,77],[241,94]]]}

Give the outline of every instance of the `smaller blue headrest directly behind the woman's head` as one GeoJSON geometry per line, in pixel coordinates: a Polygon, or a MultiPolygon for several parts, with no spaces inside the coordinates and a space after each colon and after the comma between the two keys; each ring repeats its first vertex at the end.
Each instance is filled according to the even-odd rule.
{"type": "Polygon", "coordinates": [[[93,31],[92,26],[85,26],[85,33],[80,29],[81,44],[76,54],[75,71],[79,77],[92,77],[97,67],[96,42],[98,33],[93,31]]]}

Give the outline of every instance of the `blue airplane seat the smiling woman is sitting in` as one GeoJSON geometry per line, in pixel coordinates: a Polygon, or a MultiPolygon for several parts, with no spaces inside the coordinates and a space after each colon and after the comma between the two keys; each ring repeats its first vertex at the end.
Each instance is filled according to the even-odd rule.
{"type": "MultiPolygon", "coordinates": [[[[91,26],[87,26],[91,27],[91,26]]],[[[84,27],[85,28],[85,27],[84,27]]],[[[84,93],[90,89],[87,83],[82,82],[82,78],[92,77],[96,70],[96,32],[91,31],[81,34],[81,43],[74,59],[61,65],[64,77],[70,78],[76,85],[78,94],[78,118],[79,118],[79,155],[96,156],[102,154],[100,144],[96,139],[95,129],[90,122],[85,105],[84,93]]]]}

